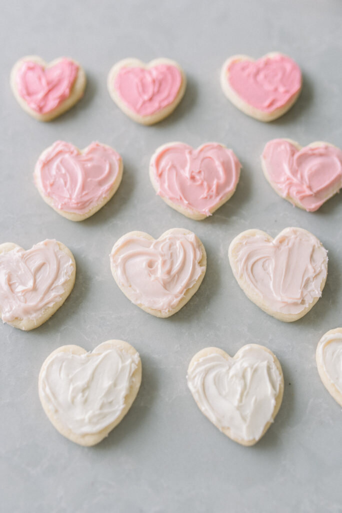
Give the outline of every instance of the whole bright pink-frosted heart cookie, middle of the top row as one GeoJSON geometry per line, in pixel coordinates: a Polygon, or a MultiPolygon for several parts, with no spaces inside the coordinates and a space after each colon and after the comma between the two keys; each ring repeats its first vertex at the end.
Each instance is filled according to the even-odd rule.
{"type": "Polygon", "coordinates": [[[127,58],[112,67],[107,85],[112,100],[127,116],[142,125],[153,125],[177,107],[186,77],[179,64],[167,58],[148,64],[127,58]]]}

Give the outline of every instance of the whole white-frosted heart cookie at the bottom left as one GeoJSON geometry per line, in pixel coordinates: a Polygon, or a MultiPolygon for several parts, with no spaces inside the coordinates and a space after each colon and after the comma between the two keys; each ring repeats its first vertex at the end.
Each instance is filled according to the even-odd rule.
{"type": "Polygon", "coordinates": [[[53,351],[39,373],[39,398],[54,427],[72,442],[95,445],[121,422],[141,383],[133,346],[109,340],[92,352],[69,345],[53,351]]]}

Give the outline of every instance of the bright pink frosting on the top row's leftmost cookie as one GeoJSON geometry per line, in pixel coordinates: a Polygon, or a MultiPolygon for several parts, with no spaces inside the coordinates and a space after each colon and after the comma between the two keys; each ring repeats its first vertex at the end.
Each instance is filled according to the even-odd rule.
{"type": "Polygon", "coordinates": [[[49,68],[24,61],[16,75],[18,93],[31,109],[46,114],[70,96],[77,73],[77,64],[67,58],[49,68]]]}

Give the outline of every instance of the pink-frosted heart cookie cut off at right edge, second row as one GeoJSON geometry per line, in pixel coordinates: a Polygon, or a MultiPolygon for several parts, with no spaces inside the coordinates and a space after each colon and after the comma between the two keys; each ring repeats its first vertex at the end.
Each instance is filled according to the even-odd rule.
{"type": "Polygon", "coordinates": [[[342,151],[328,144],[298,150],[285,139],[269,141],[262,154],[270,182],[283,198],[317,210],[342,187],[342,151]]]}

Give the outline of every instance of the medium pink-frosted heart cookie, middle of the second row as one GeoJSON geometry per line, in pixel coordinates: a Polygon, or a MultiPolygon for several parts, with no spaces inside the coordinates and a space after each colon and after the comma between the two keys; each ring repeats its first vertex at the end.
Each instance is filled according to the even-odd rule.
{"type": "Polygon", "coordinates": [[[190,219],[211,215],[234,194],[241,164],[234,152],[219,143],[197,149],[183,143],[160,146],[149,165],[157,194],[190,219]]]}

